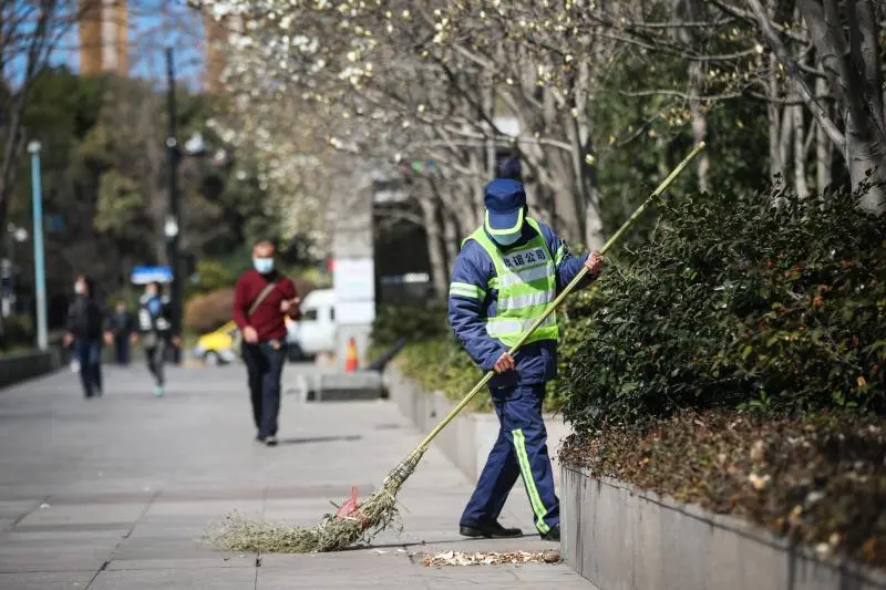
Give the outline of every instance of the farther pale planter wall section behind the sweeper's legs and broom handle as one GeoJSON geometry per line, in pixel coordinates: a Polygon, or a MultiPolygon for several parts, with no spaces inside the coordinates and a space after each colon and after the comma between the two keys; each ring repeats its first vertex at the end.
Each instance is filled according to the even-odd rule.
{"type": "MultiPolygon", "coordinates": [[[[426,392],[392,365],[388,365],[384,371],[384,386],[391,401],[424,433],[436,426],[456,405],[442,392],[426,392]]],[[[478,395],[488,394],[481,392],[478,395]]],[[[563,418],[556,416],[547,416],[545,425],[548,452],[554,457],[560,441],[571,431],[563,418]]],[[[472,482],[476,482],[497,437],[498,418],[495,414],[463,411],[437,435],[433,445],[472,482]]],[[[559,485],[559,472],[560,469],[554,469],[555,485],[559,485]]]]}

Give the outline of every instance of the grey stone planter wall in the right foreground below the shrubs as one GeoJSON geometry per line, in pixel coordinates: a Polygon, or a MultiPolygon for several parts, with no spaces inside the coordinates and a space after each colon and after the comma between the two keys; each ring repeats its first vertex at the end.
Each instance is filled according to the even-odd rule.
{"type": "Polygon", "coordinates": [[[886,576],[822,560],[732,517],[563,467],[563,556],[600,590],[882,590],[886,576]]]}

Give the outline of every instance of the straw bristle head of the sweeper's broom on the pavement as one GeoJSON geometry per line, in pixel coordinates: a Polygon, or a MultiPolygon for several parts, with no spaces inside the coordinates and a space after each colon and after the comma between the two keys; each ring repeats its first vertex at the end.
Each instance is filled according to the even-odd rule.
{"type": "Polygon", "coordinates": [[[423,454],[422,449],[416,449],[401,460],[384,478],[381,488],[351,515],[326,515],[313,527],[293,527],[233,513],[220,524],[210,527],[205,538],[219,549],[262,553],[340,551],[361,540],[369,542],[396,519],[396,494],[415,472],[423,454]]]}

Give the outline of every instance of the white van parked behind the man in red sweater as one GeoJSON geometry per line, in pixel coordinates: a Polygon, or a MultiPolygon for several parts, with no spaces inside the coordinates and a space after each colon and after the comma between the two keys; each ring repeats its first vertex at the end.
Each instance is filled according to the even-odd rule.
{"type": "Polygon", "coordinates": [[[289,359],[336,351],[336,296],[332,289],[311,291],[301,302],[301,319],[288,324],[289,359]]]}

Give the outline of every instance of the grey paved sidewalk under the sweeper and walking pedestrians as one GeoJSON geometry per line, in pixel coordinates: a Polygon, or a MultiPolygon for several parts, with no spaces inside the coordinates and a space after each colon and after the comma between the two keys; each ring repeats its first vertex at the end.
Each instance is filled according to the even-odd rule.
{"type": "MultiPolygon", "coordinates": [[[[306,370],[289,365],[295,372],[306,370]]],[[[240,365],[169,370],[164,398],[141,366],[107,366],[85,401],[65,371],[0,391],[0,589],[591,589],[564,565],[426,568],[422,552],[543,550],[537,536],[457,535],[471,483],[431,448],[401,491],[402,532],[321,555],[226,553],[198,542],[237,509],[316,524],[361,497],[421,436],[390,402],[284,397],[277,448],[257,445],[240,365]],[[418,553],[418,555],[416,555],[418,553]]],[[[533,531],[515,489],[503,521],[533,531]]]]}

